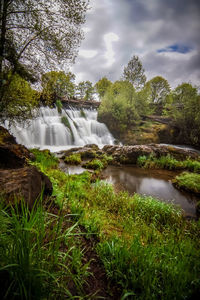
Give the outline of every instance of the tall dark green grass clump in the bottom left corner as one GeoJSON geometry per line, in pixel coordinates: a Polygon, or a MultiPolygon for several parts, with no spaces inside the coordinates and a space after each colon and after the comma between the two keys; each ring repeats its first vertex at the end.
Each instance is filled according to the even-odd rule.
{"type": "Polygon", "coordinates": [[[72,299],[71,292],[83,294],[88,264],[71,239],[76,225],[67,228],[66,218],[62,209],[58,215],[44,211],[42,199],[31,212],[23,201],[20,207],[1,206],[1,299],[72,299]]]}

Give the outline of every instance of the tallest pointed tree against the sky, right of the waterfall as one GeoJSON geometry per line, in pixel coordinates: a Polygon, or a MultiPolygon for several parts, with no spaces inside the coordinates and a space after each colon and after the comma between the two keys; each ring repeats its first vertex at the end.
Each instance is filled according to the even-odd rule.
{"type": "Polygon", "coordinates": [[[146,76],[138,56],[134,55],[124,68],[123,79],[130,81],[136,90],[144,87],[146,76]]]}

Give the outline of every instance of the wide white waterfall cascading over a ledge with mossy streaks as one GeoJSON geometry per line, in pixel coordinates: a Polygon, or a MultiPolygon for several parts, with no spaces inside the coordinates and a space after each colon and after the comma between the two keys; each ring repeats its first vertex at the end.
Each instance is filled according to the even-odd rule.
{"type": "Polygon", "coordinates": [[[114,143],[106,125],[97,121],[97,111],[89,109],[62,109],[59,114],[56,108],[41,107],[37,118],[28,124],[11,126],[10,131],[18,143],[52,152],[86,144],[101,148],[114,143]]]}

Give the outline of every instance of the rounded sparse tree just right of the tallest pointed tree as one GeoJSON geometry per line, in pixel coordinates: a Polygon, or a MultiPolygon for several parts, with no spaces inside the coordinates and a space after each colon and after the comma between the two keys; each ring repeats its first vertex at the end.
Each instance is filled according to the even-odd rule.
{"type": "Polygon", "coordinates": [[[151,102],[164,104],[166,96],[170,93],[170,85],[166,79],[156,76],[147,82],[151,90],[151,102]]]}

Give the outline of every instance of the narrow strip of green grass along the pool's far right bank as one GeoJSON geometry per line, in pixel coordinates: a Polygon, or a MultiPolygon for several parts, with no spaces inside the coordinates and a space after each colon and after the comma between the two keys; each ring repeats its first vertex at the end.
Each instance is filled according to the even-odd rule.
{"type": "Polygon", "coordinates": [[[159,158],[150,156],[140,156],[137,160],[137,165],[139,167],[144,167],[147,169],[160,168],[168,170],[188,170],[191,172],[200,173],[200,162],[191,160],[190,158],[179,161],[170,155],[161,156],[159,158]]]}

